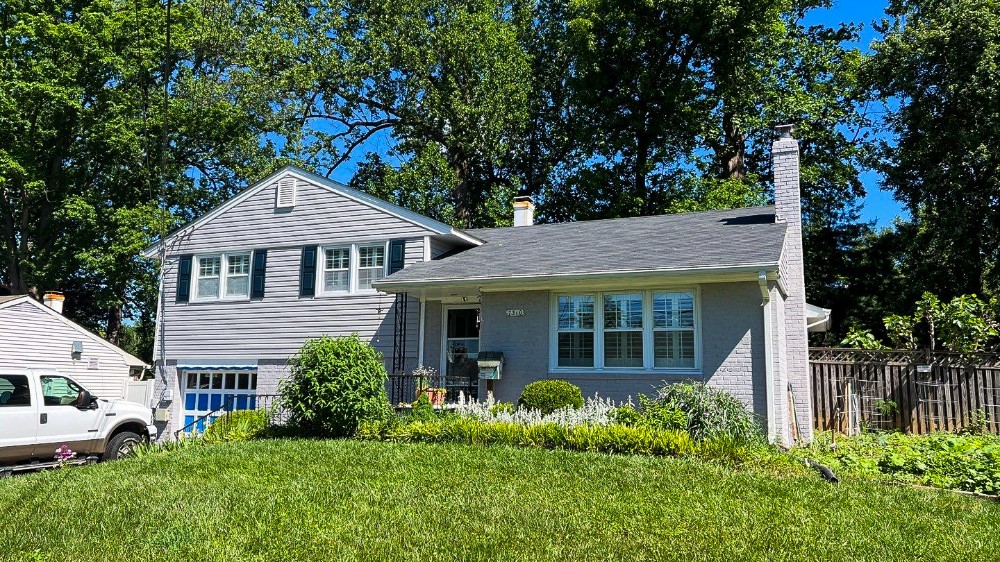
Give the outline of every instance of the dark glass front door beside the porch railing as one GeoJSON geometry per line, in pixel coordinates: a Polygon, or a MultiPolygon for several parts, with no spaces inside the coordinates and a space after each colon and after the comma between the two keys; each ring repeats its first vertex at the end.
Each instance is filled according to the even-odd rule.
{"type": "Polygon", "coordinates": [[[479,395],[479,309],[449,308],[445,324],[444,374],[447,393],[445,400],[458,400],[460,392],[466,398],[479,395]]]}

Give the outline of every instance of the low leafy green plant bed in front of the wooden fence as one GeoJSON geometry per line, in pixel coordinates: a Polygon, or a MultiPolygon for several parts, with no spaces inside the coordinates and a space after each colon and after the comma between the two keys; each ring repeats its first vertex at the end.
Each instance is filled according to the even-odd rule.
{"type": "Polygon", "coordinates": [[[817,436],[809,447],[793,449],[835,473],[892,482],[997,494],[1000,492],[1000,438],[995,435],[905,435],[894,432],[837,437],[817,436]]]}

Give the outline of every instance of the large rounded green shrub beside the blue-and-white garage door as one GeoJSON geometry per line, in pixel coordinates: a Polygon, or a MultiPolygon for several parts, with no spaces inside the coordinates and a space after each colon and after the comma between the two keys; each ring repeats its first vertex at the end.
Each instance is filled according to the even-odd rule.
{"type": "Polygon", "coordinates": [[[305,435],[352,435],[361,422],[392,413],[382,356],[357,334],[308,340],[289,364],[281,405],[305,435]]]}

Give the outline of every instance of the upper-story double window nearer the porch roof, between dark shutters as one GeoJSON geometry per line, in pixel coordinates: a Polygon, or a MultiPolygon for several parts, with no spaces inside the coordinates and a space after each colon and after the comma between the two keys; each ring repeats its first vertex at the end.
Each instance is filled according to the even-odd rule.
{"type": "Polygon", "coordinates": [[[320,252],[320,294],[336,295],[374,291],[372,284],[386,275],[386,244],[325,246],[320,252]]]}

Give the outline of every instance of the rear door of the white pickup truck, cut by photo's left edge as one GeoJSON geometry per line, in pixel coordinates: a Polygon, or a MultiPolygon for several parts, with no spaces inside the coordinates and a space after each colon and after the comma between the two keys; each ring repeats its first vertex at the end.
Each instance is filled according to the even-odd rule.
{"type": "Polygon", "coordinates": [[[31,458],[40,402],[27,375],[0,374],[0,465],[31,458]]]}

